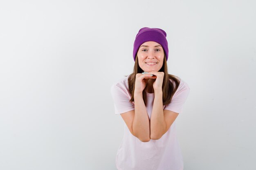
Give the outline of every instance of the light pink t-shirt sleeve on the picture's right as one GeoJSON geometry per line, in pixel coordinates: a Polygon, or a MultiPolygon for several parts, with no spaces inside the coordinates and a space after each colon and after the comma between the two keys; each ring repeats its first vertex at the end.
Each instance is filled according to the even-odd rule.
{"type": "Polygon", "coordinates": [[[186,102],[187,97],[189,96],[189,85],[184,82],[181,84],[177,91],[174,93],[173,98],[171,99],[171,103],[166,105],[164,110],[170,110],[175,113],[182,113],[182,106],[186,102]]]}

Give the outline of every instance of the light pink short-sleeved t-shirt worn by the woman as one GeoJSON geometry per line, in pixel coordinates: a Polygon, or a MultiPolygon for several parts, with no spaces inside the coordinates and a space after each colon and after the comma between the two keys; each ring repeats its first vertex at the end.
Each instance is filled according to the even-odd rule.
{"type": "MultiPolygon", "coordinates": [[[[173,80],[170,79],[171,82],[173,80]]],[[[174,84],[175,86],[175,84],[174,84]]],[[[115,114],[134,110],[134,102],[130,103],[128,76],[121,78],[111,86],[115,114]]],[[[180,79],[180,86],[173,95],[171,103],[163,109],[182,113],[190,88],[180,79]]],[[[149,119],[153,108],[154,93],[147,93],[146,110],[149,119]]],[[[183,170],[183,157],[176,138],[175,121],[168,131],[158,140],[150,139],[142,142],[130,133],[124,122],[124,137],[117,150],[116,166],[118,170],[183,170]]]]}

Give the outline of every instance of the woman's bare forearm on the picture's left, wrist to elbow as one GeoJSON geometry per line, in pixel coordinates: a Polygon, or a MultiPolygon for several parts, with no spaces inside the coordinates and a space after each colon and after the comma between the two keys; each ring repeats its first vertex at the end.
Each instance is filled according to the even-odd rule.
{"type": "Polygon", "coordinates": [[[135,115],[132,122],[133,133],[140,141],[149,141],[150,121],[142,93],[134,93],[134,106],[135,115]]]}

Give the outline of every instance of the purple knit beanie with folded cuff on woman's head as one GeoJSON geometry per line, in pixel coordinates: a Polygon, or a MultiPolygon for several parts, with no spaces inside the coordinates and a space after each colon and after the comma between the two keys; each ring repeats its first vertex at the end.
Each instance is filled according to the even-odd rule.
{"type": "Polygon", "coordinates": [[[137,52],[139,50],[139,46],[141,46],[141,44],[147,41],[155,41],[158,44],[161,44],[164,49],[164,53],[166,55],[166,61],[168,60],[168,42],[166,40],[166,32],[158,28],[143,27],[137,33],[134,44],[133,44],[133,60],[134,61],[135,61],[137,52]]]}

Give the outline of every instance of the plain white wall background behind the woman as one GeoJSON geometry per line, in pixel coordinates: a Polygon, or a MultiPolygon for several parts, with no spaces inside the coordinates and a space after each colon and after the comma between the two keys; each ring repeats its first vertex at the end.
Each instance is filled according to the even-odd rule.
{"type": "Polygon", "coordinates": [[[132,73],[140,28],[167,33],[189,84],[176,121],[184,170],[253,170],[256,2],[0,1],[0,169],[115,170],[110,87],[132,73]]]}

